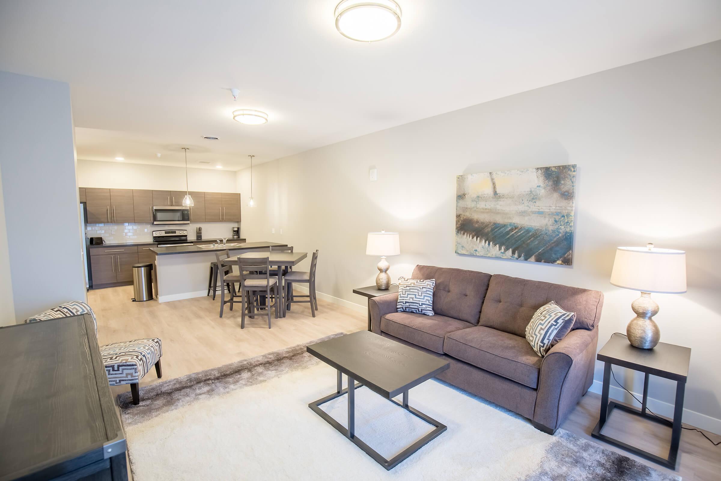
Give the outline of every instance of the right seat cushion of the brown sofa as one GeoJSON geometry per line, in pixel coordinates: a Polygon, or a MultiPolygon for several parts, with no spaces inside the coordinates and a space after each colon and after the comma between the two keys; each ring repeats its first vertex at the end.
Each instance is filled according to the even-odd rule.
{"type": "Polygon", "coordinates": [[[449,333],[443,350],[448,356],[524,386],[536,389],[539,385],[543,358],[534,352],[526,337],[476,326],[449,333]]]}

